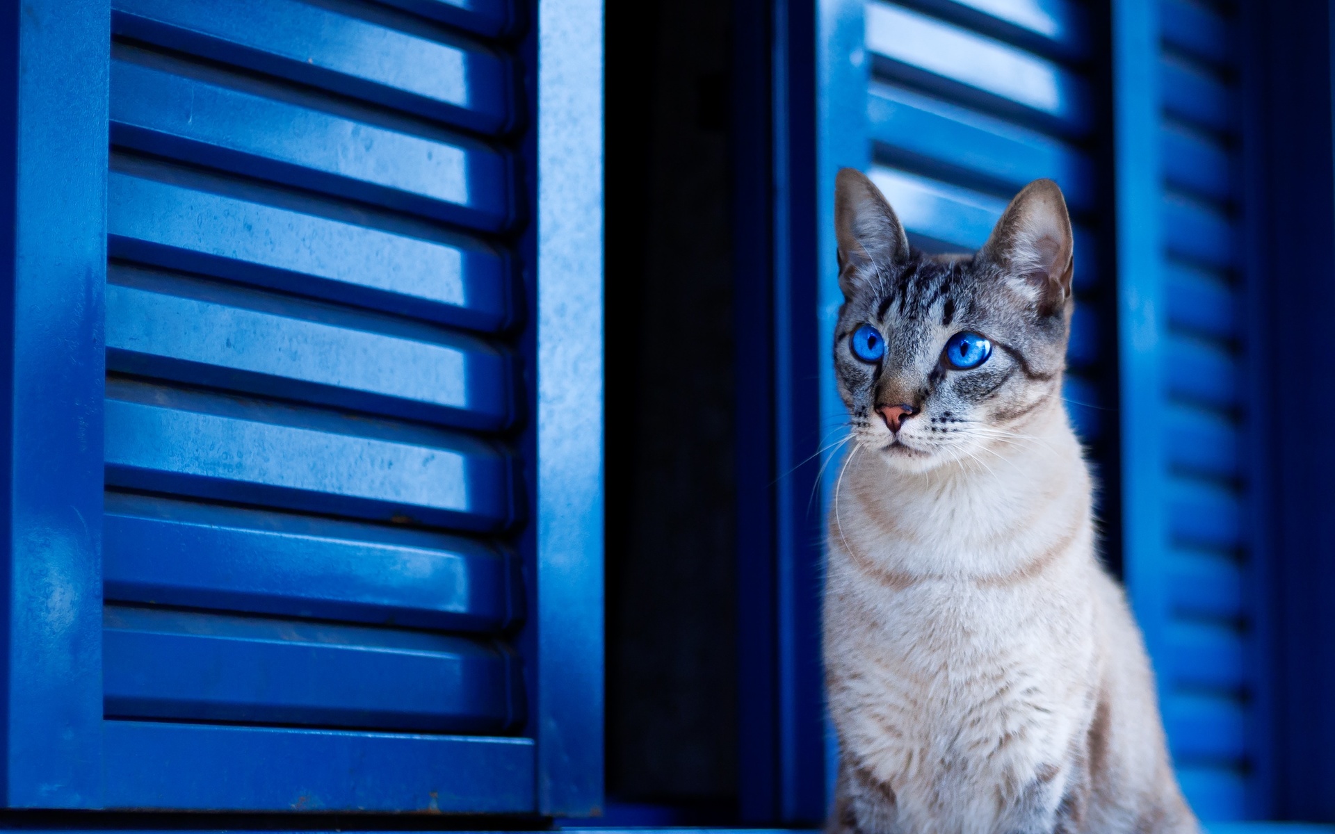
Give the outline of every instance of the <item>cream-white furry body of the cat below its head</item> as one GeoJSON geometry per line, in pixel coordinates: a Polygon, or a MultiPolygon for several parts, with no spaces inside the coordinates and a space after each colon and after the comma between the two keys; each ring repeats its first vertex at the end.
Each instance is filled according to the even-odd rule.
{"type": "Polygon", "coordinates": [[[830,830],[1197,830],[1056,396],[971,458],[924,466],[864,439],[837,480],[830,830]]]}

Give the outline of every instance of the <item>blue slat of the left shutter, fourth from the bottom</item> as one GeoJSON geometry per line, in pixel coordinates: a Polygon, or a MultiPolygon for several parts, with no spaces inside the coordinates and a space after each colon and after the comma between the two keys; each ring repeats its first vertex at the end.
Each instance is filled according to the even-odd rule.
{"type": "Polygon", "coordinates": [[[475,339],[129,267],[108,282],[111,370],[465,428],[514,419],[514,356],[475,339]]]}

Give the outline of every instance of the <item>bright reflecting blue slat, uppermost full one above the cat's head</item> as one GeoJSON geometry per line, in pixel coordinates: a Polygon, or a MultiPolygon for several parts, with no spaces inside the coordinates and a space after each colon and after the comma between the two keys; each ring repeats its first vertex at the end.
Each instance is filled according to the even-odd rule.
{"type": "Polygon", "coordinates": [[[866,5],[866,48],[880,72],[1067,132],[1089,125],[1083,79],[1047,59],[896,4],[866,5]]]}

